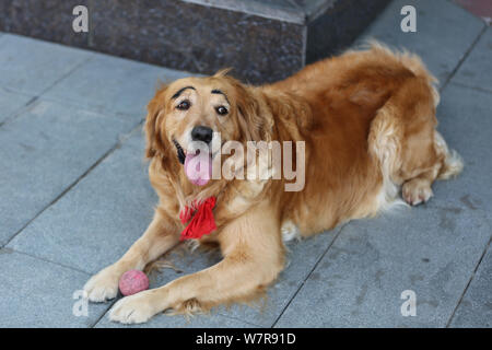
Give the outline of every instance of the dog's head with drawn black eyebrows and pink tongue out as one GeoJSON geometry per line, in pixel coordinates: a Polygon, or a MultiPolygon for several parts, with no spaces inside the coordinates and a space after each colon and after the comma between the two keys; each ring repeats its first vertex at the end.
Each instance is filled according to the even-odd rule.
{"type": "MultiPolygon", "coordinates": [[[[191,160],[209,161],[226,141],[265,139],[265,120],[254,88],[220,71],[206,78],[184,78],[161,88],[148,105],[147,156],[179,162],[187,171],[191,160]]],[[[191,167],[189,167],[191,168],[191,167]]],[[[194,167],[195,168],[195,167],[194,167]]],[[[210,170],[211,172],[211,170],[210,170]]],[[[210,177],[198,176],[204,185],[210,177]]]]}

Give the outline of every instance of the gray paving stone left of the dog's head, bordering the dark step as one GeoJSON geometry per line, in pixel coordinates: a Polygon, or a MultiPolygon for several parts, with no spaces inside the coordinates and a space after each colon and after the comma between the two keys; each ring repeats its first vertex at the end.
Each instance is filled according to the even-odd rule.
{"type": "Polygon", "coordinates": [[[85,108],[145,117],[145,106],[159,81],[173,81],[185,72],[160,68],[102,54],[77,69],[45,97],[72,103],[85,108]]]}

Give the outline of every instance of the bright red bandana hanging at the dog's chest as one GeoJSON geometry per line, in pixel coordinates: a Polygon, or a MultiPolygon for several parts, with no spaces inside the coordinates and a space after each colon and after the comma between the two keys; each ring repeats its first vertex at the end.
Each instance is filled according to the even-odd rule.
{"type": "Polygon", "coordinates": [[[200,238],[216,229],[212,209],[215,207],[215,197],[209,197],[202,201],[196,210],[185,207],[179,213],[183,224],[188,225],[183,230],[179,241],[200,238]],[[190,221],[191,219],[191,221],[190,221]]]}

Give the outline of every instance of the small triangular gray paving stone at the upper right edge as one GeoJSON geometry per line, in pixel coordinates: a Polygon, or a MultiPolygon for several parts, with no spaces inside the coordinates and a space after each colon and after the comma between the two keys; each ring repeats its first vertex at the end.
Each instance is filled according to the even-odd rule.
{"type": "Polygon", "coordinates": [[[492,28],[483,33],[453,81],[492,92],[492,28]]]}

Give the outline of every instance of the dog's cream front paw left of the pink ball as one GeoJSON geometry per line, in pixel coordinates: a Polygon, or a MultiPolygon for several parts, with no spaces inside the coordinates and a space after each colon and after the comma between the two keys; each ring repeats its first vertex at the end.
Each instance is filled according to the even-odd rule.
{"type": "Polygon", "coordinates": [[[91,302],[101,303],[115,299],[118,293],[118,282],[121,273],[113,266],[94,275],[84,285],[84,291],[91,302]]]}

